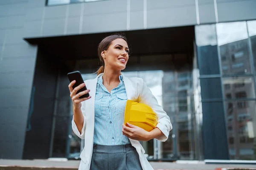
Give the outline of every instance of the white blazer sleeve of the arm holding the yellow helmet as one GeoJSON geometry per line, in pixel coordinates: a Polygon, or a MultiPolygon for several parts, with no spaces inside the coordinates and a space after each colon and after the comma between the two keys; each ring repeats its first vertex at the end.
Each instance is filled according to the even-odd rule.
{"type": "Polygon", "coordinates": [[[152,94],[151,90],[145,84],[143,79],[141,79],[140,83],[140,94],[139,94],[139,102],[144,103],[150,106],[155,113],[157,113],[158,123],[157,127],[163,132],[163,136],[157,138],[157,140],[161,142],[165,142],[169,137],[169,132],[172,130],[172,123],[170,121],[169,116],[163,111],[162,106],[160,106],[157,102],[157,99],[152,94]]]}

